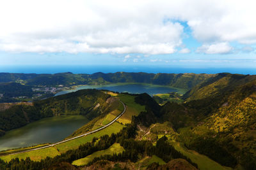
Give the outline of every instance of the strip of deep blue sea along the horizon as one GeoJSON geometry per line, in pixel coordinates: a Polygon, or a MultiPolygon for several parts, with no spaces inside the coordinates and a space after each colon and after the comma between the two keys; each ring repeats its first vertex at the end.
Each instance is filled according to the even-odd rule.
{"type": "Polygon", "coordinates": [[[209,67],[209,68],[186,68],[168,66],[0,66],[0,73],[115,73],[124,72],[145,72],[145,73],[238,73],[256,74],[255,68],[234,68],[234,67],[209,67]]]}

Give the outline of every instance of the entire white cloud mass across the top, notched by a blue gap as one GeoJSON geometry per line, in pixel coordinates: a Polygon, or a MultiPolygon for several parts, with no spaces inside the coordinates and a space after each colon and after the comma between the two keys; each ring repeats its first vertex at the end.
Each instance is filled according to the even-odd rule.
{"type": "MultiPolygon", "coordinates": [[[[177,20],[187,22],[193,37],[207,44],[200,48],[214,48],[216,42],[252,44],[254,7],[250,0],[0,1],[0,50],[174,53],[184,35],[177,20]]],[[[225,53],[224,46],[208,51],[225,53]]]]}

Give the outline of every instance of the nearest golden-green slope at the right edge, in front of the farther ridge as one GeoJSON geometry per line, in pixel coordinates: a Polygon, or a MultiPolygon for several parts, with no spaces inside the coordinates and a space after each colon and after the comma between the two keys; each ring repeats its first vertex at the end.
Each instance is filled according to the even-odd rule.
{"type": "Polygon", "coordinates": [[[230,92],[220,92],[220,100],[212,101],[218,103],[218,107],[209,113],[210,116],[198,122],[193,129],[182,131],[181,138],[186,146],[212,159],[219,159],[221,164],[230,162],[231,165],[237,160],[246,169],[256,166],[256,81],[244,83],[253,78],[240,79],[236,82],[237,87],[233,82],[230,92]],[[211,148],[215,148],[214,153],[211,148]]]}

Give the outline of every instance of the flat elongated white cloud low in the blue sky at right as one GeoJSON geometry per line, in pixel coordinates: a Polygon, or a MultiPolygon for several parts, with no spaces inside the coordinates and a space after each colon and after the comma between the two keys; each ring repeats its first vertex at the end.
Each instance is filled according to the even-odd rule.
{"type": "Polygon", "coordinates": [[[230,46],[228,43],[216,43],[212,45],[202,45],[197,48],[197,53],[207,53],[207,54],[214,54],[214,53],[230,53],[233,50],[233,47],[230,46]]]}

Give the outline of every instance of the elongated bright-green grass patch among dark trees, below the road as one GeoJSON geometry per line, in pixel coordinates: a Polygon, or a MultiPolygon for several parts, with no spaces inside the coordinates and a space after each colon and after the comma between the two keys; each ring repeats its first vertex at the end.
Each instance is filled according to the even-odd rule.
{"type": "Polygon", "coordinates": [[[113,155],[113,153],[122,153],[124,152],[124,148],[120,146],[119,143],[114,143],[112,146],[110,146],[106,150],[100,150],[97,152],[92,153],[92,155],[88,155],[87,157],[83,159],[78,159],[72,162],[72,165],[75,166],[84,166],[88,164],[88,162],[92,161],[95,157],[100,157],[101,155],[113,155]]]}

